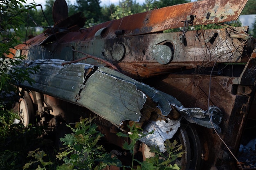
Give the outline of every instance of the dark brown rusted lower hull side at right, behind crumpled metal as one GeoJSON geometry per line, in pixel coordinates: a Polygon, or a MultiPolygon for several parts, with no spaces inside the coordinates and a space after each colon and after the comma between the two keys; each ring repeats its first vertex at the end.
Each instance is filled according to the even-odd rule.
{"type": "MultiPolygon", "coordinates": [[[[251,56],[253,55],[254,52],[251,56]]],[[[231,69],[235,72],[238,66],[233,66],[234,68],[231,69]]],[[[254,77],[256,77],[254,67],[255,61],[254,58],[251,58],[243,72],[235,77],[175,74],[164,77],[162,81],[150,79],[150,82],[147,83],[160,91],[171,94],[186,107],[198,106],[206,109],[208,99],[210,105],[219,106],[224,118],[220,125],[222,128],[220,136],[231,151],[236,153],[240,146],[240,139],[255,93],[255,85],[252,84],[255,82],[254,77]]],[[[208,152],[211,153],[209,158],[205,160],[207,163],[220,163],[218,160],[231,157],[222,141],[211,130],[198,127],[197,131],[200,139],[207,141],[208,152]]]]}

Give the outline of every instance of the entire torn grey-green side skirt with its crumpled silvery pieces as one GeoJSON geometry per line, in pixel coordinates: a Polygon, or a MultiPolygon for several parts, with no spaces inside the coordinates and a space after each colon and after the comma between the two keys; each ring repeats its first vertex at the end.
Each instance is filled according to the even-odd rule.
{"type": "Polygon", "coordinates": [[[185,108],[175,97],[110,68],[97,67],[90,76],[87,76],[86,73],[94,67],[93,65],[76,63],[63,67],[62,62],[65,61],[36,60],[27,64],[28,67],[39,64],[40,69],[36,74],[30,75],[35,80],[33,86],[28,82],[20,86],[33,88],[35,91],[89,108],[116,126],[125,120],[139,121],[140,110],[147,97],[150,97],[158,104],[157,108],[161,111],[160,116],[163,119],[148,124],[145,132],[155,132],[142,140],[149,146],[159,146],[162,151],[164,141],[171,139],[180,127],[179,120],[165,117],[172,109],[176,109],[191,123],[207,128],[214,127],[217,132],[221,132],[218,125],[221,123],[222,112],[216,106],[211,106],[206,111],[201,108],[185,108]],[[69,83],[63,84],[63,81],[69,83]]]}

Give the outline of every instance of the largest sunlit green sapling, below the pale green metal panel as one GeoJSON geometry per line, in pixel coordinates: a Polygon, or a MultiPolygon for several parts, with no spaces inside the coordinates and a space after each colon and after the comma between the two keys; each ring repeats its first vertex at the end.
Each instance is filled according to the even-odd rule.
{"type": "Polygon", "coordinates": [[[93,119],[81,119],[76,123],[75,128],[69,126],[73,133],[61,138],[64,151],[58,153],[56,157],[64,163],[58,166],[57,170],[101,170],[107,165],[121,166],[120,161],[111,158],[98,141],[103,136],[97,131],[96,124],[92,124],[93,119]]]}

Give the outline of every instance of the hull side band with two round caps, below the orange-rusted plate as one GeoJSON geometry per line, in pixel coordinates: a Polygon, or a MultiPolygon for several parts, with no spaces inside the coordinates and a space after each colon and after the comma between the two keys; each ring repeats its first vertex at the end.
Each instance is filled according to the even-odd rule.
{"type": "MultiPolygon", "coordinates": [[[[126,75],[151,77],[184,66],[197,68],[198,66],[212,66],[214,62],[244,62],[242,53],[246,40],[231,38],[230,34],[244,33],[246,35],[247,29],[247,27],[242,27],[239,32],[232,27],[189,31],[186,33],[186,43],[182,39],[184,38],[182,33],[150,34],[109,40],[76,40],[79,42],[60,44],[59,42],[67,39],[64,36],[52,44],[26,47],[22,54],[27,55],[30,60],[61,56],[63,60],[72,61],[84,57],[83,54],[73,50],[81,51],[115,63],[126,75]],[[137,42],[144,43],[138,44],[137,42]]],[[[87,59],[86,62],[105,66],[93,59],[87,59]]]]}

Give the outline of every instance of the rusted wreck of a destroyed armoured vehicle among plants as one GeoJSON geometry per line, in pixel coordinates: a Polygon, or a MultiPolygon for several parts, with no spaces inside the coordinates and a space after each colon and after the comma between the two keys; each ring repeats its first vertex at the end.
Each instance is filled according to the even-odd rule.
{"type": "Polygon", "coordinates": [[[22,67],[40,68],[19,109],[33,117],[96,116],[108,142],[137,122],[145,132],[138,150],[178,139],[182,170],[238,169],[236,155],[247,119],[255,119],[256,44],[248,26],[190,31],[194,25],[237,20],[247,0],[203,0],[129,15],[84,28],[81,13],[67,17],[63,0],[55,25],[16,46],[22,67]],[[164,33],[181,28],[181,31],[164,33]],[[232,154],[231,154],[232,152],[232,154]]]}

